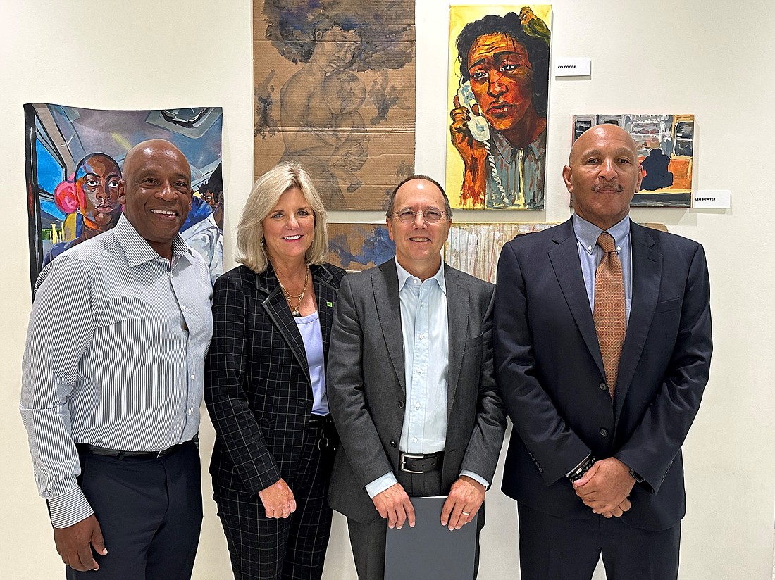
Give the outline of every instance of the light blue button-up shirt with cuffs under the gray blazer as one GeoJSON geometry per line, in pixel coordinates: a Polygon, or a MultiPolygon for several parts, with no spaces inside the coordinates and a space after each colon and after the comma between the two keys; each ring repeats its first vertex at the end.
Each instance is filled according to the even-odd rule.
{"type": "MultiPolygon", "coordinates": [[[[406,379],[406,407],[398,448],[418,455],[436,453],[443,451],[446,444],[449,320],[444,263],[427,280],[412,276],[398,259],[395,265],[406,379]]],[[[468,475],[485,487],[490,485],[465,469],[460,475],[468,475]]],[[[366,491],[373,498],[397,482],[395,475],[388,472],[367,484],[366,491]]]]}

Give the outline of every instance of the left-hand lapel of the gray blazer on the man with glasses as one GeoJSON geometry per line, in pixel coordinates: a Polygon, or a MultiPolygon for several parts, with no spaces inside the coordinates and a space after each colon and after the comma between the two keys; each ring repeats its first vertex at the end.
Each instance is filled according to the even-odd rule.
{"type": "MultiPolygon", "coordinates": [[[[401,334],[401,300],[398,297],[398,271],[395,269],[395,259],[388,260],[374,270],[371,283],[387,354],[393,362],[398,384],[406,394],[404,336],[401,334]]],[[[370,329],[364,328],[363,331],[367,332],[370,329]]]]}

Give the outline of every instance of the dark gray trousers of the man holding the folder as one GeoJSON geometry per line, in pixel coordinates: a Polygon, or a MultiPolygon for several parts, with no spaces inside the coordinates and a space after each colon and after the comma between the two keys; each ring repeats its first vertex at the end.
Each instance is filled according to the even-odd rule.
{"type": "MultiPolygon", "coordinates": [[[[405,492],[410,497],[442,496],[441,472],[429,472],[422,474],[406,474],[410,482],[404,486],[405,492]]],[[[482,506],[484,509],[484,504],[482,506]]],[[[376,508],[375,508],[376,511],[376,508]]],[[[477,519],[477,549],[476,561],[474,561],[474,578],[479,568],[479,534],[484,526],[484,518],[477,519]]],[[[408,523],[404,524],[408,526],[408,523]]],[[[439,514],[439,526],[441,514],[439,514]]],[[[467,524],[468,525],[468,524],[467,524]]],[[[350,533],[350,546],[353,548],[355,568],[358,572],[358,580],[384,580],[385,571],[385,538],[387,537],[387,520],[377,517],[367,523],[360,523],[347,518],[347,530],[350,533]]],[[[407,578],[410,580],[410,578],[407,578]]]]}

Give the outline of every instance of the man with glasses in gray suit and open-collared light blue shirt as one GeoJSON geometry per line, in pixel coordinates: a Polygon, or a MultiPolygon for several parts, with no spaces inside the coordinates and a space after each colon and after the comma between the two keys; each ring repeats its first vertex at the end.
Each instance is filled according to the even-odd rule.
{"type": "Polygon", "coordinates": [[[426,176],[402,181],[386,221],[395,259],[343,279],[327,376],[342,439],[329,503],[347,517],[360,580],[383,578],[384,520],[415,525],[410,497],[448,495],[440,520],[450,530],[474,519],[505,430],[494,286],[443,263],[452,225],[443,188],[426,176]]]}

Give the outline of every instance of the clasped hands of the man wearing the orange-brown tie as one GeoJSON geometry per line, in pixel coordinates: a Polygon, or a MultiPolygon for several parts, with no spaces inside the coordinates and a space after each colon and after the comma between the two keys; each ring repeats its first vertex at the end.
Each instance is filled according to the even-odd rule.
{"type": "MultiPolygon", "coordinates": [[[[618,513],[618,506],[627,499],[635,479],[629,467],[615,457],[601,459],[574,482],[576,495],[595,513],[618,513]]],[[[626,504],[625,504],[626,505],[626,504]]]]}

